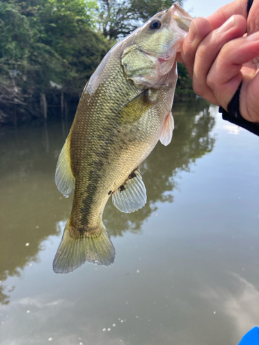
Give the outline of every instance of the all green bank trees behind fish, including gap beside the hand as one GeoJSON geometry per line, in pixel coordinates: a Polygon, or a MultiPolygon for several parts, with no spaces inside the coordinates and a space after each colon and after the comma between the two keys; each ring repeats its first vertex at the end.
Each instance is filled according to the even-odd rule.
{"type": "MultiPolygon", "coordinates": [[[[113,44],[171,3],[0,1],[0,122],[39,117],[42,99],[49,110],[61,110],[64,93],[65,108],[66,102],[77,102],[113,44]]],[[[189,94],[191,81],[181,66],[179,75],[180,94],[189,94]]]]}

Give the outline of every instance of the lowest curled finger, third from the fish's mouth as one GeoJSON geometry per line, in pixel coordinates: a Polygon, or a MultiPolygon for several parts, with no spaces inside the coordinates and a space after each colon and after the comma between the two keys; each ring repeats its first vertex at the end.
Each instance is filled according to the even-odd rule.
{"type": "MultiPolygon", "coordinates": [[[[215,99],[218,100],[220,105],[227,110],[227,105],[235,94],[240,82],[242,81],[243,74],[245,79],[251,81],[256,73],[256,67],[242,68],[244,63],[248,63],[259,55],[259,32],[252,34],[248,37],[240,37],[233,41],[227,42],[218,57],[215,59],[213,66],[207,75],[207,85],[211,88],[215,99]],[[241,71],[242,68],[242,72],[241,71]]],[[[247,88],[249,83],[244,83],[243,88],[247,88]]],[[[250,91],[254,96],[254,100],[258,99],[258,88],[250,91]],[[254,95],[256,93],[257,95],[254,95]]],[[[242,97],[248,95],[243,93],[242,97]]],[[[241,101],[241,98],[240,98],[241,101]]],[[[242,99],[242,103],[245,100],[242,99]]],[[[247,110],[245,110],[247,112],[247,110]]],[[[242,113],[242,112],[241,112],[242,113]]]]}

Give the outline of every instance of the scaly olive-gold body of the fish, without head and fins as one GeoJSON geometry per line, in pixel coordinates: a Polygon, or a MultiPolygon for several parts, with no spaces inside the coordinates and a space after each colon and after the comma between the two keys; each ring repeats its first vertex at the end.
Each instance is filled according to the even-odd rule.
{"type": "Polygon", "coordinates": [[[71,162],[75,171],[82,175],[75,184],[75,190],[80,190],[75,195],[75,205],[84,204],[84,207],[73,207],[71,215],[73,225],[78,228],[97,226],[102,200],[108,199],[109,190],[116,190],[137,168],[146,152],[152,150],[153,139],[160,132],[160,112],[152,108],[133,126],[120,124],[117,109],[128,101],[128,95],[132,99],[137,92],[133,83],[126,81],[122,68],[108,67],[114,73],[97,88],[94,97],[83,95],[82,110],[78,112],[71,133],[71,162]],[[116,90],[118,81],[126,92],[116,90]],[[110,92],[106,92],[107,89],[110,92]],[[102,121],[97,121],[100,115],[102,121]],[[146,128],[145,132],[138,130],[142,126],[146,128]],[[78,137],[81,138],[80,145],[73,145],[73,140],[77,141],[78,137]]]}

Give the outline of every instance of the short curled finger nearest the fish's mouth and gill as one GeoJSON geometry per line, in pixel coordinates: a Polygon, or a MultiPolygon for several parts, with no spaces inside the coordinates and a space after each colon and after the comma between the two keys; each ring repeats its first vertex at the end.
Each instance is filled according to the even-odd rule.
{"type": "Polygon", "coordinates": [[[193,63],[196,50],[202,39],[204,39],[211,30],[211,25],[207,19],[198,17],[191,22],[189,33],[184,39],[181,52],[181,61],[186,66],[186,70],[191,77],[193,77],[193,63]]]}

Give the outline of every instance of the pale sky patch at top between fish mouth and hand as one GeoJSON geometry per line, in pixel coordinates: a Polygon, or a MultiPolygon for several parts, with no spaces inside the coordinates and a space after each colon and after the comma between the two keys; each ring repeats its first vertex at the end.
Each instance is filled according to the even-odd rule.
{"type": "Polygon", "coordinates": [[[231,0],[185,0],[184,10],[189,12],[191,17],[208,17],[227,3],[231,3],[231,0]]]}

